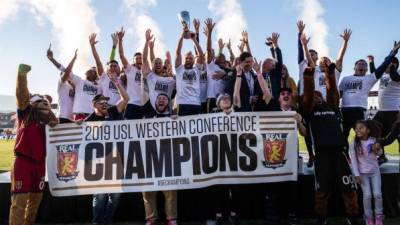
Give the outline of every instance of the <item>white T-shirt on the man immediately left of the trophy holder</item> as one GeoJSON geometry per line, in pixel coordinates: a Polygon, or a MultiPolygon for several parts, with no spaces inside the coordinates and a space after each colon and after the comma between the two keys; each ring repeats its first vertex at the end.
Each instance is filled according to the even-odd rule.
{"type": "Polygon", "coordinates": [[[173,77],[162,77],[150,72],[146,80],[149,87],[150,103],[154,109],[156,108],[156,100],[159,94],[167,94],[171,100],[172,92],[175,89],[175,79],[173,77]]]}

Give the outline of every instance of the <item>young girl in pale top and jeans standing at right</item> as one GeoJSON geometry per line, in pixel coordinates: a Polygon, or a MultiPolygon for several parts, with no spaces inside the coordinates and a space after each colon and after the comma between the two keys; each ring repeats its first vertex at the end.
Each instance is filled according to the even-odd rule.
{"type": "Polygon", "coordinates": [[[381,125],[373,120],[361,120],[356,123],[355,132],[356,137],[349,146],[350,157],[356,181],[361,185],[363,192],[365,221],[367,225],[382,225],[383,204],[378,165],[378,156],[382,154],[382,150],[375,148],[381,125]],[[375,205],[375,223],[371,200],[375,205]]]}

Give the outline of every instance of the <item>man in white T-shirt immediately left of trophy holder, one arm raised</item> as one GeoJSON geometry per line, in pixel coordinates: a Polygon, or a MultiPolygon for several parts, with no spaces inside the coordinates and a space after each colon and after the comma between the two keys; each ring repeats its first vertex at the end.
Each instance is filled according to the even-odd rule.
{"type": "MultiPolygon", "coordinates": [[[[160,58],[156,57],[154,61],[152,61],[152,66],[150,67],[148,61],[149,42],[153,39],[150,29],[146,30],[145,36],[146,42],[143,49],[142,76],[146,79],[152,106],[151,112],[147,112],[145,117],[151,118],[155,115],[156,100],[159,94],[166,94],[168,99],[171,99],[172,92],[175,89],[175,79],[165,73],[163,61],[160,58]]],[[[171,107],[171,103],[169,103],[169,106],[171,107]]]]}

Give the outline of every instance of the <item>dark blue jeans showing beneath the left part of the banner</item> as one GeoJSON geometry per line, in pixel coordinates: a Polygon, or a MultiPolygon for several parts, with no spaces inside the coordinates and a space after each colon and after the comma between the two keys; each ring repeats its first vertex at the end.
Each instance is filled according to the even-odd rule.
{"type": "Polygon", "coordinates": [[[120,197],[120,193],[93,195],[92,223],[111,224],[120,197]]]}

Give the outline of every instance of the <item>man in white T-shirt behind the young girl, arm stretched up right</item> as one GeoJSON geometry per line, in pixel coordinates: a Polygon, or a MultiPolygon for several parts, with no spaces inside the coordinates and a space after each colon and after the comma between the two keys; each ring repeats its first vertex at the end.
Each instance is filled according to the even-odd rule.
{"type": "MultiPolygon", "coordinates": [[[[342,97],[341,113],[343,116],[343,134],[349,136],[350,129],[355,122],[365,119],[368,106],[368,93],[375,83],[382,77],[400,48],[400,43],[395,45],[383,63],[371,74],[366,74],[368,64],[364,59],[357,60],[354,64],[354,75],[342,79],[339,89],[342,97]]],[[[347,143],[348,146],[348,143],[347,143]]]]}

